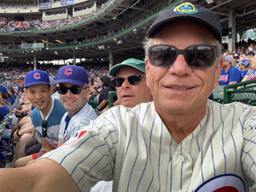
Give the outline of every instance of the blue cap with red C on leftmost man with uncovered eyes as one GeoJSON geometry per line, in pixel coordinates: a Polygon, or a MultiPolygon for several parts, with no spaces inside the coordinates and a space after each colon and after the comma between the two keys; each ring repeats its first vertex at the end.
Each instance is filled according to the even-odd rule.
{"type": "Polygon", "coordinates": [[[49,75],[41,70],[33,70],[26,73],[24,87],[27,87],[32,84],[49,84],[49,75]]]}

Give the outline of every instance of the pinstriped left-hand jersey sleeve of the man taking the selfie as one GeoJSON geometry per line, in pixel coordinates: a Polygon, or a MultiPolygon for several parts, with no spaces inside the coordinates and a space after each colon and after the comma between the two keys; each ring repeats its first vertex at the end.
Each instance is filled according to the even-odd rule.
{"type": "Polygon", "coordinates": [[[118,131],[115,123],[111,122],[114,119],[108,118],[106,121],[102,118],[104,116],[90,121],[90,125],[76,132],[67,143],[42,157],[63,166],[81,191],[90,192],[98,181],[113,179],[118,131]]]}

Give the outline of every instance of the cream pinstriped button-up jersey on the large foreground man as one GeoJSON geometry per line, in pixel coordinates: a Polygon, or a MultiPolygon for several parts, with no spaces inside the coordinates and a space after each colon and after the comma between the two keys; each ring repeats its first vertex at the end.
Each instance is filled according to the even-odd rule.
{"type": "MultiPolygon", "coordinates": [[[[111,179],[119,192],[196,191],[218,177],[247,185],[248,177],[256,180],[255,118],[255,107],[208,101],[201,123],[177,144],[153,102],[117,106],[44,157],[61,164],[81,191],[111,179]]],[[[225,181],[216,180],[213,186],[225,181]]]]}

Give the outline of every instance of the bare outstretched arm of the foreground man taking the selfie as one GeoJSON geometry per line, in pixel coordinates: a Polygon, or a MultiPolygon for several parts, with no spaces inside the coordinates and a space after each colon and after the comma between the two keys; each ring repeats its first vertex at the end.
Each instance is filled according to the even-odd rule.
{"type": "Polygon", "coordinates": [[[20,168],[1,169],[0,177],[1,190],[5,192],[80,191],[68,172],[49,159],[20,168]]]}

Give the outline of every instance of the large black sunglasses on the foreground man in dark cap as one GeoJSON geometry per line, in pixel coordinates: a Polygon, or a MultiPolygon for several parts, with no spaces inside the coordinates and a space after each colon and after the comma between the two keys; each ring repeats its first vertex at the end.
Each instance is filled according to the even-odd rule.
{"type": "Polygon", "coordinates": [[[212,45],[191,45],[186,49],[177,49],[172,45],[154,44],[148,48],[148,60],[155,67],[171,67],[177,55],[185,57],[189,67],[212,67],[217,57],[217,48],[212,45]]]}

